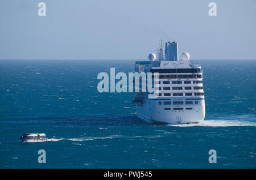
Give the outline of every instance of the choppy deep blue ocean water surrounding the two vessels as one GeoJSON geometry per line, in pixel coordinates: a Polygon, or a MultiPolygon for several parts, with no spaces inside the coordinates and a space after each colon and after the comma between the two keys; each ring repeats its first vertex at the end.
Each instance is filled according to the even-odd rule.
{"type": "Polygon", "coordinates": [[[0,168],[256,168],[256,61],[195,63],[205,121],[156,126],[135,116],[133,93],[97,91],[99,72],[133,72],[134,61],[1,60],[0,168]],[[25,132],[49,140],[18,142],[25,132]]]}

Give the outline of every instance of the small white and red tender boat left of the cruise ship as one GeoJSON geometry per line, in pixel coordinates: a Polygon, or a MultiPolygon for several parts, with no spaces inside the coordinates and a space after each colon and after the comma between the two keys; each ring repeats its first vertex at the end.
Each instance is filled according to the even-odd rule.
{"type": "Polygon", "coordinates": [[[23,143],[37,143],[46,142],[47,138],[44,133],[26,133],[19,138],[19,141],[23,143]]]}

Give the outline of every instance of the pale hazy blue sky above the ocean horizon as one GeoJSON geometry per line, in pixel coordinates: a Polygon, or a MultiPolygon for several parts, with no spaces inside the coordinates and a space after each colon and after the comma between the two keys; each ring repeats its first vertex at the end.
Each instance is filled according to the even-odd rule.
{"type": "Polygon", "coordinates": [[[146,59],[160,38],[191,59],[256,59],[256,1],[0,0],[0,59],[146,59]]]}

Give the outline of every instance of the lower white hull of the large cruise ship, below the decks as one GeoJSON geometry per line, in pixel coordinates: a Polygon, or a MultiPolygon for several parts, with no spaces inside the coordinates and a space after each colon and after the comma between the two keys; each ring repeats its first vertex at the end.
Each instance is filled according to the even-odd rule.
{"type": "MultiPolygon", "coordinates": [[[[163,100],[161,101],[163,102],[163,100]]],[[[168,99],[165,101],[168,101],[168,99]]],[[[196,101],[199,104],[163,105],[162,103],[162,105],[159,105],[159,100],[146,99],[146,102],[143,102],[142,105],[136,105],[135,110],[137,117],[148,123],[200,123],[203,122],[205,117],[204,98],[196,99],[196,101]],[[164,108],[170,108],[170,110],[165,110],[164,108]],[[174,110],[174,108],[183,108],[183,110],[174,110]],[[186,108],[192,109],[187,110],[186,108]]]]}

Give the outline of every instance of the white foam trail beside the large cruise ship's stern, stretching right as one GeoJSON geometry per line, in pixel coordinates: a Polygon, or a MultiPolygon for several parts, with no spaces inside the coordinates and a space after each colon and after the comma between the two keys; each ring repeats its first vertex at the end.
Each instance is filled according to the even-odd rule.
{"type": "Polygon", "coordinates": [[[229,126],[256,126],[256,122],[253,121],[241,121],[241,120],[204,120],[197,124],[185,124],[185,125],[167,125],[177,127],[192,127],[192,126],[208,126],[208,127],[229,127],[229,126]]]}

